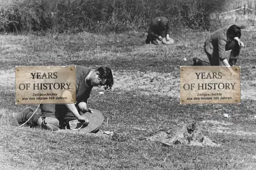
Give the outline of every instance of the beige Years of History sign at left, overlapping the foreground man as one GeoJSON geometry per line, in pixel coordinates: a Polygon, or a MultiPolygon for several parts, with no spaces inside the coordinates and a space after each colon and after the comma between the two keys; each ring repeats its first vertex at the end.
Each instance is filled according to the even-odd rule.
{"type": "Polygon", "coordinates": [[[16,66],[16,104],[76,102],[75,66],[16,66]]]}

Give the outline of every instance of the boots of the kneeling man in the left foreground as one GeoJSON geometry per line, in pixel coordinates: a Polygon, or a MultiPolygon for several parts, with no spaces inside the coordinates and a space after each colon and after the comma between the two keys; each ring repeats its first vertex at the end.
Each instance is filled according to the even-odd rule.
{"type": "Polygon", "coordinates": [[[21,113],[19,113],[18,115],[16,115],[13,118],[12,125],[20,126],[20,125],[24,124],[25,122],[27,122],[27,120],[29,119],[29,121],[27,122],[27,125],[29,125],[30,127],[38,126],[37,120],[40,118],[40,115],[34,114],[32,116],[33,113],[34,113],[34,111],[32,108],[29,108],[29,107],[25,108],[21,113]]]}

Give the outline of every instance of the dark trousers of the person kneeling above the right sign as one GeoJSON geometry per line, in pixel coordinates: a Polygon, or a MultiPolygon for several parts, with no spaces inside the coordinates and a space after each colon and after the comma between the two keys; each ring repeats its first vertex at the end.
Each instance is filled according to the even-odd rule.
{"type": "MultiPolygon", "coordinates": [[[[214,50],[213,50],[212,54],[209,54],[206,51],[206,46],[209,45],[207,43],[209,43],[209,42],[205,41],[204,51],[208,56],[210,65],[211,66],[219,66],[220,65],[220,60],[219,60],[218,46],[214,47],[214,50]]],[[[237,63],[237,60],[239,59],[239,54],[240,54],[240,51],[241,51],[241,47],[239,46],[237,41],[232,40],[232,41],[230,41],[229,43],[226,44],[225,50],[226,51],[231,50],[230,55],[229,55],[229,59],[228,59],[228,63],[229,63],[229,65],[233,66],[234,64],[237,63]]]]}

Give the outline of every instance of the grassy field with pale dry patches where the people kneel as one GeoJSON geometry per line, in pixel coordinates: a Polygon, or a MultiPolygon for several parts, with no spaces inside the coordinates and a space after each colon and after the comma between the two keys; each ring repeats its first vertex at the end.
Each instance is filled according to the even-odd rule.
{"type": "Polygon", "coordinates": [[[245,47],[237,63],[241,105],[179,104],[179,66],[191,65],[193,57],[207,60],[203,42],[208,34],[174,31],[176,44],[170,46],[145,44],[145,33],[137,31],[1,35],[0,169],[255,169],[255,32],[242,33],[245,47]],[[13,115],[37,107],[15,105],[15,65],[73,64],[112,68],[113,89],[93,89],[88,105],[109,117],[101,130],[114,135],[12,127],[13,115]],[[203,134],[220,147],[166,147],[146,139],[189,120],[196,120],[203,134]]]}

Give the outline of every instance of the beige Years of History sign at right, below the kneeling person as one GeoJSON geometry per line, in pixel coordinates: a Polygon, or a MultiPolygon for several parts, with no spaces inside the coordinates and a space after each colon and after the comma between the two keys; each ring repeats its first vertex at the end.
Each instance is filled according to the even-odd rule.
{"type": "Polygon", "coordinates": [[[240,104],[240,66],[180,66],[180,104],[240,104]]]}

